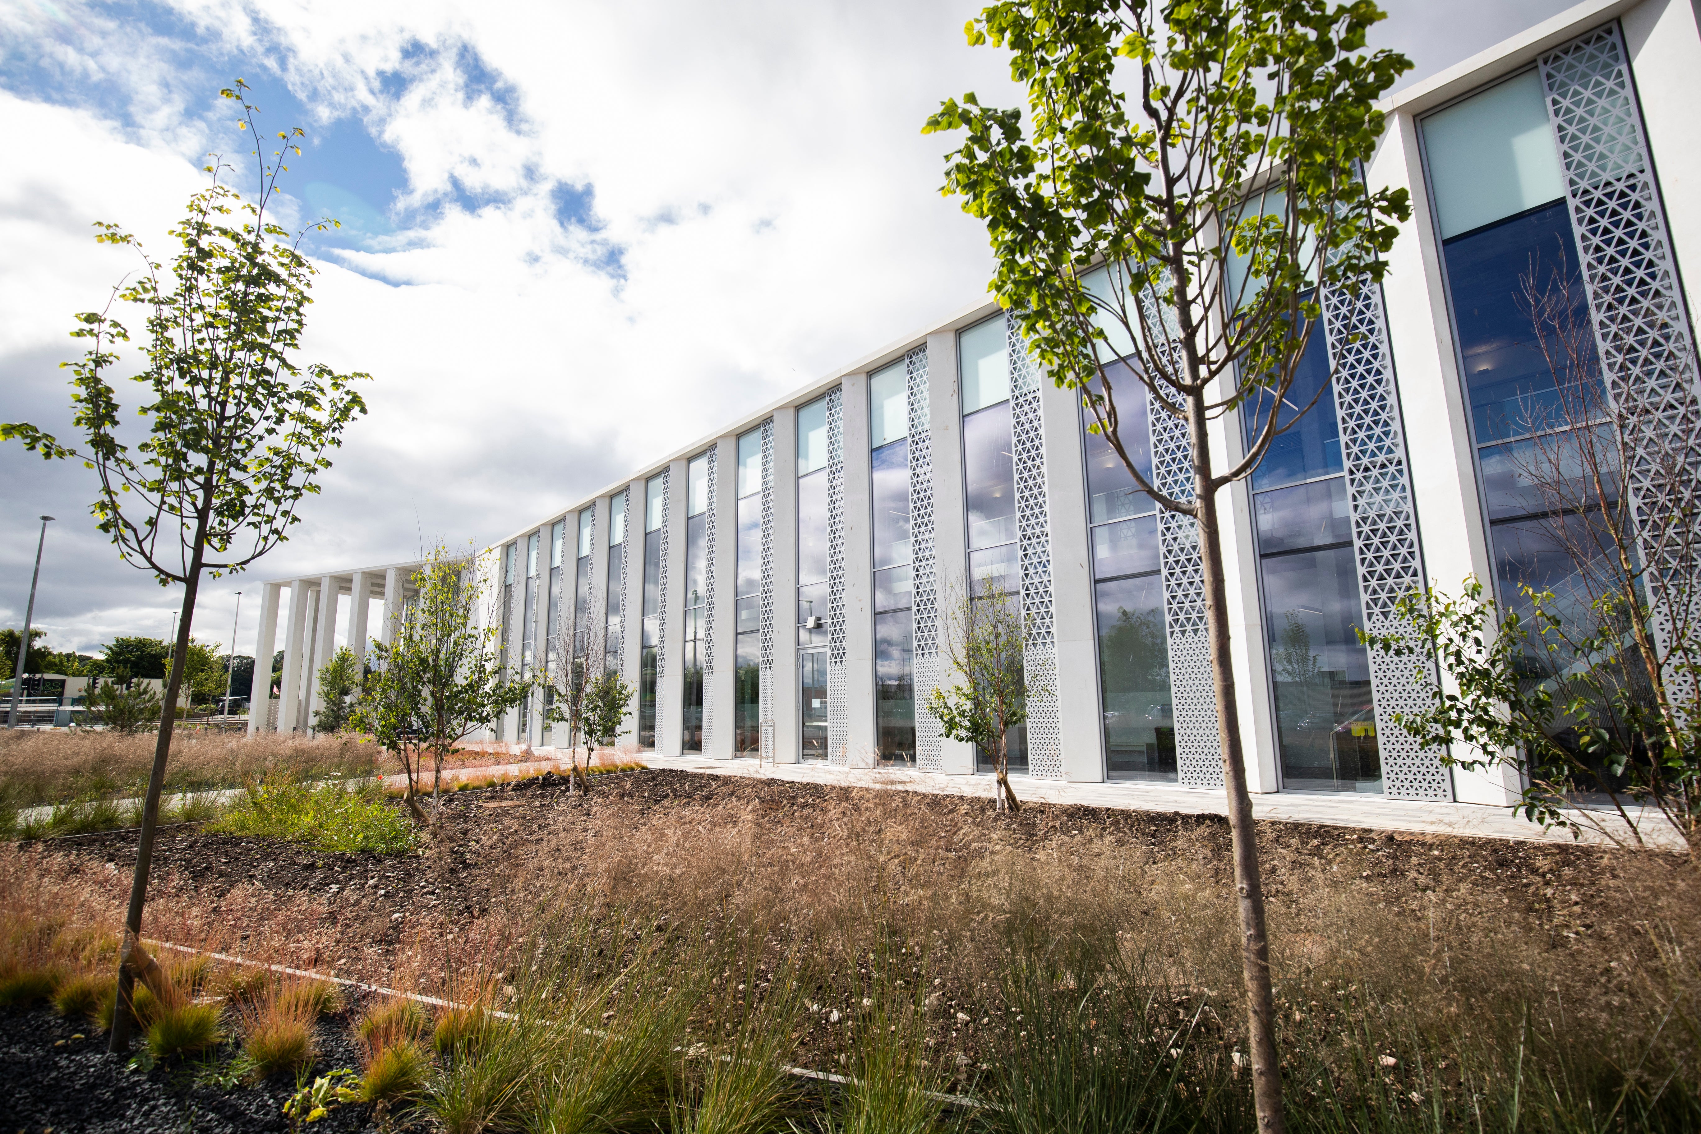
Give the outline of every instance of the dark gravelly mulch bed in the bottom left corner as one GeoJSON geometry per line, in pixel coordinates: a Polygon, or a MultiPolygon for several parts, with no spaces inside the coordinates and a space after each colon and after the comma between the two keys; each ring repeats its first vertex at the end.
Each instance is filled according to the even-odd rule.
{"type": "MultiPolygon", "coordinates": [[[[316,1074],[356,1068],[347,1015],[318,1025],[316,1074]]],[[[136,1046],[139,1051],[141,1046],[136,1046]]],[[[109,1056],[105,1035],[83,1020],[61,1020],[46,1008],[0,1008],[0,1131],[12,1134],[260,1134],[287,1131],[284,1102],[294,1081],[219,1085],[235,1049],[172,1059],[148,1071],[126,1056],[109,1056]]],[[[315,1131],[373,1131],[371,1107],[345,1105],[315,1131]]]]}

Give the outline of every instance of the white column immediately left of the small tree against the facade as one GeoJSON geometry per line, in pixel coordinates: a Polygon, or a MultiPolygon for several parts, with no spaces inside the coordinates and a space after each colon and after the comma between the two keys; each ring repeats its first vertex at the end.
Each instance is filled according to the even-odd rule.
{"type": "MultiPolygon", "coordinates": [[[[934,558],[939,573],[939,643],[953,610],[968,590],[968,519],[963,495],[963,410],[958,400],[956,332],[927,337],[929,417],[932,418],[934,454],[934,558]]],[[[941,665],[942,680],[961,680],[949,663],[941,665]]],[[[915,690],[917,702],[924,699],[915,690]]],[[[925,709],[917,704],[917,714],[925,709]]],[[[958,740],[941,741],[941,762],[947,775],[975,772],[975,746],[958,740]]]]}

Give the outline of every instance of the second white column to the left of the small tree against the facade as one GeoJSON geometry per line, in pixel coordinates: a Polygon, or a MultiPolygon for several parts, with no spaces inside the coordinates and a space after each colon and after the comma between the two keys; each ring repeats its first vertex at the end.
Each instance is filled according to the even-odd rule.
{"type": "Polygon", "coordinates": [[[868,374],[842,384],[845,447],[845,757],[879,765],[874,728],[874,513],[868,434],[868,374]]]}

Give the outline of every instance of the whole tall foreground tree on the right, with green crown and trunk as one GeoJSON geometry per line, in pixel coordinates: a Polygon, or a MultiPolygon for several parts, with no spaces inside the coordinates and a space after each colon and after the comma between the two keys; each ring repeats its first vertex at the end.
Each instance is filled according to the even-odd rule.
{"type": "Polygon", "coordinates": [[[1209,425],[1249,403],[1283,405],[1323,296],[1380,284],[1378,257],[1408,216],[1405,190],[1371,192],[1359,173],[1381,133],[1376,99],[1410,68],[1364,49],[1381,17],[1368,2],[1007,0],[968,36],[1010,49],[1033,141],[1021,111],[983,109],[975,95],[947,100],[925,126],[966,131],[944,190],[987,223],[992,291],[1033,354],[1082,393],[1135,483],[1196,522],[1266,1134],[1286,1120],[1218,493],[1315,398],[1257,420],[1242,456],[1216,452],[1209,425]],[[1099,292],[1085,281],[1095,265],[1111,277],[1099,292]],[[1119,384],[1186,423],[1184,490],[1165,491],[1129,459],[1119,384]]]}

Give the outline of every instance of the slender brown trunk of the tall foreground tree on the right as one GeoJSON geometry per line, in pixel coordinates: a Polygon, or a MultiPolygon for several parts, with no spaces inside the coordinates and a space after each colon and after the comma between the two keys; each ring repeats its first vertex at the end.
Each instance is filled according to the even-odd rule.
{"type": "Polygon", "coordinates": [[[1216,729],[1223,750],[1223,787],[1228,792],[1228,831],[1235,855],[1235,901],[1240,911],[1240,964],[1247,984],[1247,1039],[1252,1047],[1252,1102],[1259,1134],[1286,1134],[1281,1102],[1281,1059],[1276,1054],[1276,996],[1271,989],[1271,949],[1264,927],[1264,881],[1259,874],[1252,794],[1240,746],[1240,706],[1228,655],[1228,585],[1223,570],[1223,530],[1211,491],[1209,439],[1204,400],[1189,405],[1194,452],[1194,503],[1199,553],[1204,561],[1204,624],[1211,636],[1211,689],[1216,694],[1216,729]]]}

